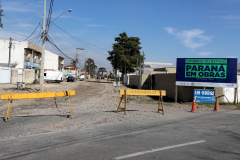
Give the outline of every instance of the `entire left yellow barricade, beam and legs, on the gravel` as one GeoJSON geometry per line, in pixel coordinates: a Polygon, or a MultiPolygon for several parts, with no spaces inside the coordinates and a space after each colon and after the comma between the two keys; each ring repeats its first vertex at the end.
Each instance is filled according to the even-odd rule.
{"type": "Polygon", "coordinates": [[[67,99],[69,100],[70,113],[71,113],[71,117],[73,118],[73,110],[71,107],[70,96],[74,96],[74,95],[75,95],[75,90],[58,91],[58,92],[41,92],[41,93],[18,93],[18,94],[11,93],[11,94],[0,94],[0,99],[9,101],[5,121],[7,121],[10,118],[11,104],[14,99],[15,100],[16,99],[36,99],[36,98],[52,98],[53,97],[55,100],[56,108],[58,109],[57,97],[64,97],[64,96],[67,96],[67,99]]]}

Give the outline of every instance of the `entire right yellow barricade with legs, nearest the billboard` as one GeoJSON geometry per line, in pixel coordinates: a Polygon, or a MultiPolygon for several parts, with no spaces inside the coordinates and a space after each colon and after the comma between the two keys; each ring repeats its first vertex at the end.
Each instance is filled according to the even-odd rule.
{"type": "Polygon", "coordinates": [[[118,108],[118,110],[124,110],[124,115],[126,115],[127,111],[127,95],[147,95],[147,96],[159,96],[159,103],[158,103],[158,113],[162,111],[162,115],[164,115],[163,110],[163,96],[166,96],[165,90],[137,90],[137,89],[120,89],[120,95],[122,95],[118,108]],[[120,107],[122,100],[125,100],[124,108],[120,107]],[[161,108],[160,108],[161,107],[161,108]]]}

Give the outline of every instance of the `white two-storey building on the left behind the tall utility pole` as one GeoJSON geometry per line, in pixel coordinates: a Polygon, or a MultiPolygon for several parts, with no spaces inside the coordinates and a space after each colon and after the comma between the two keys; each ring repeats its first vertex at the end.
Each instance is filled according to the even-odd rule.
{"type": "MultiPolygon", "coordinates": [[[[0,40],[0,66],[9,65],[9,44],[10,40],[0,40]]],[[[12,41],[11,47],[11,68],[19,69],[40,69],[42,48],[28,41],[12,41]]],[[[62,70],[64,58],[50,51],[45,51],[44,70],[62,70]]]]}

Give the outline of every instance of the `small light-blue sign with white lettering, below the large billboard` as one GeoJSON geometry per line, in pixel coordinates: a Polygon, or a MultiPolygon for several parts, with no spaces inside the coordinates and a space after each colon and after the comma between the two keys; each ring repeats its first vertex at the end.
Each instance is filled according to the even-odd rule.
{"type": "Polygon", "coordinates": [[[195,89],[194,98],[196,102],[215,103],[215,91],[195,89]]]}

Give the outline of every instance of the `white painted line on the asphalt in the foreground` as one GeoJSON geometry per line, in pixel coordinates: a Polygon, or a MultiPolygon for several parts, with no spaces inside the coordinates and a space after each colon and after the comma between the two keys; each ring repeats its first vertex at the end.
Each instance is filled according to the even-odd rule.
{"type": "Polygon", "coordinates": [[[177,144],[177,145],[167,146],[167,147],[162,147],[162,148],[156,148],[156,149],[151,149],[151,150],[147,150],[147,151],[143,151],[143,152],[136,152],[136,153],[128,154],[128,155],[125,155],[125,156],[116,157],[115,159],[126,159],[126,158],[136,157],[136,156],[147,154],[147,153],[153,153],[153,152],[163,151],[163,150],[177,148],[177,147],[184,147],[184,146],[189,146],[189,145],[203,143],[203,142],[205,142],[205,140],[183,143],[183,144],[177,144]]]}

